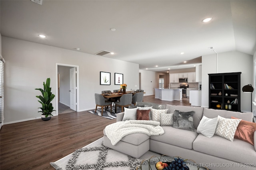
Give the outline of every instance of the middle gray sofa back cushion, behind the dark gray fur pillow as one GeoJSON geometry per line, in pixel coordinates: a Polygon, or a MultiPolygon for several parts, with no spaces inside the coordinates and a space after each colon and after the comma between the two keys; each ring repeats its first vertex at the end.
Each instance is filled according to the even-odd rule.
{"type": "MultiPolygon", "coordinates": [[[[174,105],[166,104],[166,109],[168,109],[167,113],[174,113],[174,110],[179,110],[183,112],[194,111],[195,112],[195,114],[193,115],[194,128],[197,129],[199,122],[203,117],[204,107],[174,106],[174,105]]],[[[209,117],[209,118],[212,118],[212,117],[209,117]]]]}

